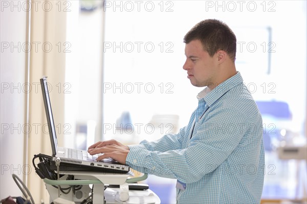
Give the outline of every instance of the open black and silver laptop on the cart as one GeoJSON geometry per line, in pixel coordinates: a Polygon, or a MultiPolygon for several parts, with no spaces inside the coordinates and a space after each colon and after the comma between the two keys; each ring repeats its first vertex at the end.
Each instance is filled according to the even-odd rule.
{"type": "MultiPolygon", "coordinates": [[[[56,137],[56,129],[54,126],[51,102],[49,97],[49,91],[47,86],[47,78],[40,79],[43,104],[45,105],[45,111],[47,116],[50,142],[52,148],[52,157],[60,158],[59,170],[62,171],[102,171],[113,173],[127,173],[130,168],[127,165],[121,164],[112,158],[106,158],[100,161],[96,161],[99,155],[90,155],[87,150],[71,149],[66,147],[59,147],[56,137]]],[[[101,155],[101,154],[100,154],[101,155]]],[[[55,163],[51,163],[52,170],[56,170],[55,163]]]]}

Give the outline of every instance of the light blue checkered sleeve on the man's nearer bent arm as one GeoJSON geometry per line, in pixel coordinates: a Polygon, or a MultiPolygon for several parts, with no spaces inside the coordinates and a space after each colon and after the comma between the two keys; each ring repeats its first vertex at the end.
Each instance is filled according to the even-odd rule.
{"type": "Polygon", "coordinates": [[[173,142],[169,138],[162,138],[158,143],[131,148],[126,163],[140,172],[173,177],[183,183],[199,181],[205,174],[221,165],[248,132],[242,129],[234,134],[225,133],[226,126],[232,124],[238,129],[246,122],[244,115],[237,110],[215,109],[195,125],[193,136],[186,148],[180,148],[176,140],[173,142]],[[164,144],[167,148],[159,148],[158,145],[164,142],[169,142],[164,144]],[[214,164],[215,168],[210,166],[208,169],[207,164],[214,164]]]}

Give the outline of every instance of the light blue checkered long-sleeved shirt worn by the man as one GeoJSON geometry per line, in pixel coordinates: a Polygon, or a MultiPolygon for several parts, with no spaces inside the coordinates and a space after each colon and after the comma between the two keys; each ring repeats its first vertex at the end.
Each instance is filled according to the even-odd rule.
{"type": "Polygon", "coordinates": [[[211,92],[178,134],[129,145],[133,169],[177,179],[178,203],[260,203],[265,174],[262,118],[238,72],[211,92]]]}

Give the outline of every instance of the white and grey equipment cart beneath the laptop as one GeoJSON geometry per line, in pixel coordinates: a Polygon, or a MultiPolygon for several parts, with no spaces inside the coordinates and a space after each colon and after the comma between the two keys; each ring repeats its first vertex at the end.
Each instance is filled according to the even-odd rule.
{"type": "Polygon", "coordinates": [[[128,179],[129,174],[105,173],[92,171],[60,171],[64,174],[59,180],[44,179],[46,188],[50,194],[50,202],[58,198],[58,190],[53,186],[62,188],[69,185],[82,185],[78,191],[68,194],[60,194],[63,199],[81,202],[91,197],[93,204],[105,203],[160,203],[160,198],[150,189],[144,191],[129,191],[128,183],[135,183],[147,179],[147,174],[141,177],[128,179]],[[74,175],[75,180],[66,180],[68,175],[74,175]],[[104,188],[104,184],[120,185],[120,188],[104,188]],[[90,185],[93,185],[92,189],[90,185]]]}

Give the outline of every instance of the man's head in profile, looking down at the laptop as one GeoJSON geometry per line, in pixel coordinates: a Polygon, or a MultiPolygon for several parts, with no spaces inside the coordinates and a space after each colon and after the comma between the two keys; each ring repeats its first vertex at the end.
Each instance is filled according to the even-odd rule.
{"type": "Polygon", "coordinates": [[[185,35],[184,42],[187,59],[183,69],[193,86],[214,89],[236,74],[236,38],[225,23],[201,21],[185,35]]]}

